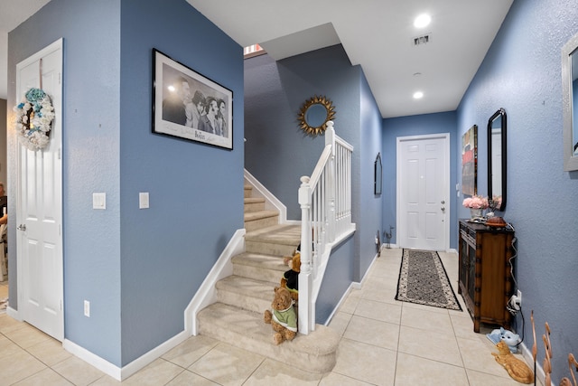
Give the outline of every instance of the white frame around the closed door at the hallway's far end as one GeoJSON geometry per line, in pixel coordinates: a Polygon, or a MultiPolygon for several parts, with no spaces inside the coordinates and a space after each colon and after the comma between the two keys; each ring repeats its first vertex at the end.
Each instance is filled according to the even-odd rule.
{"type": "MultiPolygon", "coordinates": [[[[445,165],[443,165],[445,169],[445,178],[447,179],[446,184],[444,184],[444,192],[446,200],[445,200],[445,221],[444,221],[444,233],[445,237],[443,240],[443,249],[449,250],[450,248],[450,219],[452,218],[451,212],[451,195],[450,195],[450,133],[440,133],[440,134],[428,134],[423,136],[407,136],[407,137],[396,137],[396,229],[400,229],[400,215],[401,215],[401,186],[402,186],[402,178],[400,168],[401,168],[401,160],[400,160],[400,149],[401,143],[406,141],[418,141],[418,140],[427,140],[427,139],[435,139],[441,138],[444,140],[444,147],[445,147],[445,165]]],[[[398,233],[399,234],[399,233],[398,233]]],[[[400,245],[400,240],[397,240],[397,245],[399,247],[403,247],[400,245]]]]}

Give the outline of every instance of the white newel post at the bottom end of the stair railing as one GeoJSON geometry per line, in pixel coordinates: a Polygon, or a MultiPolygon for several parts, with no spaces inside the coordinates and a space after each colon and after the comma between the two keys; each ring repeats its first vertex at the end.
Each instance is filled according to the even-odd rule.
{"type": "Polygon", "coordinates": [[[299,273],[298,309],[299,332],[309,334],[314,330],[314,305],[312,305],[312,234],[309,213],[312,206],[310,178],[301,177],[299,187],[299,204],[301,205],[301,270],[299,273]]]}

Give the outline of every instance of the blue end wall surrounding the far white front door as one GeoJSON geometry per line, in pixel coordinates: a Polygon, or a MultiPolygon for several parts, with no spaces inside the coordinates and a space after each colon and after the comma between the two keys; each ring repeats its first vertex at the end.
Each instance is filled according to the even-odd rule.
{"type": "MultiPolygon", "coordinates": [[[[489,118],[489,117],[488,117],[489,118]]],[[[387,118],[383,122],[383,229],[389,231],[389,226],[396,227],[397,200],[397,137],[424,136],[429,134],[450,133],[450,149],[455,149],[460,142],[457,140],[457,116],[453,112],[425,114],[412,117],[387,118]]],[[[450,153],[450,248],[457,249],[458,231],[456,207],[461,205],[461,198],[456,199],[456,168],[460,153],[450,153]]],[[[461,159],[461,157],[460,157],[461,159]]],[[[461,173],[461,168],[460,168],[461,173]]],[[[480,177],[478,177],[480,181],[480,177]]],[[[396,243],[397,232],[393,230],[391,243],[396,243]]]]}

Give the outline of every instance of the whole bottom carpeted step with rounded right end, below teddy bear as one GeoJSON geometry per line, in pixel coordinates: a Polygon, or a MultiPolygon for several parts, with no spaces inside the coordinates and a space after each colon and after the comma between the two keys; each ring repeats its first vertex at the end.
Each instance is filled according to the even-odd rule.
{"type": "Polygon", "coordinates": [[[330,372],[336,362],[340,336],[316,325],[311,334],[297,334],[291,342],[275,345],[273,329],[263,314],[215,303],[200,311],[200,334],[259,353],[308,372],[330,372]]]}

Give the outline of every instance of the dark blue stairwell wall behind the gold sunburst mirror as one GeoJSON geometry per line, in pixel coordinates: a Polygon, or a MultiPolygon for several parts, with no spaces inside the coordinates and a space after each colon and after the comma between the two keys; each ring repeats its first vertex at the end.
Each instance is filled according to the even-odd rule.
{"type": "Polygon", "coordinates": [[[359,71],[340,45],[282,61],[268,55],[245,61],[245,167],[284,202],[290,220],[301,219],[299,178],[312,174],[325,146],[324,136],[299,127],[300,108],[314,95],[327,97],[335,132],[359,145],[359,71]]]}

